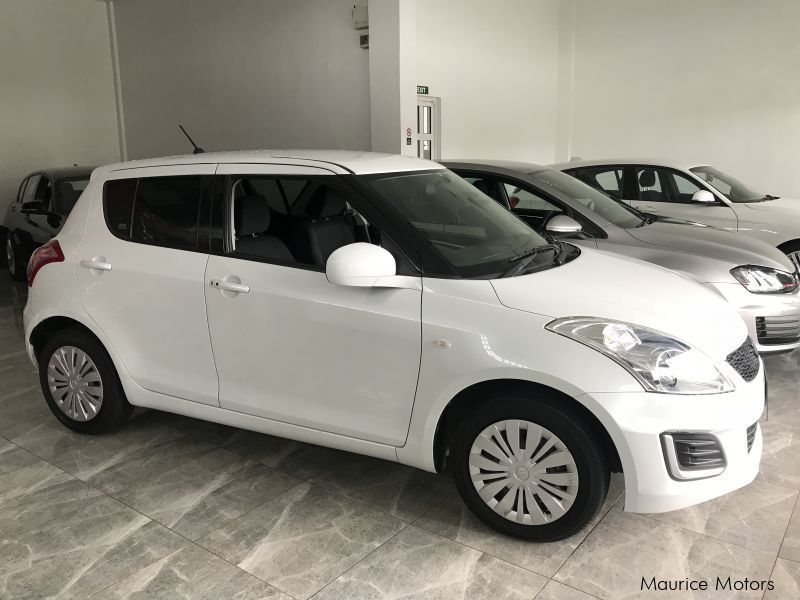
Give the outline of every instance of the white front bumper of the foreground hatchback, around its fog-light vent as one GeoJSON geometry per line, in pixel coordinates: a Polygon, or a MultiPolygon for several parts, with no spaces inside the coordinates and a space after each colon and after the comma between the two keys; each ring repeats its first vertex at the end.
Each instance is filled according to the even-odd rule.
{"type": "Polygon", "coordinates": [[[763,365],[753,381],[746,383],[738,378],[736,390],[725,394],[633,392],[590,397],[613,422],[607,429],[622,462],[626,511],[678,510],[732,492],[758,475],[761,430],[756,428],[748,450],[747,428],[764,410],[763,365]],[[725,468],[715,475],[710,471],[703,479],[676,479],[662,443],[662,434],[667,432],[712,434],[725,455],[725,468]]]}

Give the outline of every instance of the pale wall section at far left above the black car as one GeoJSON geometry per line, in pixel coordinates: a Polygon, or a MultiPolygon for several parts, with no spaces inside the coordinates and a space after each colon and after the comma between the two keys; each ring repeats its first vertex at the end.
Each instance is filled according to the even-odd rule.
{"type": "Polygon", "coordinates": [[[119,160],[106,6],[0,2],[0,219],[30,171],[119,160]]]}

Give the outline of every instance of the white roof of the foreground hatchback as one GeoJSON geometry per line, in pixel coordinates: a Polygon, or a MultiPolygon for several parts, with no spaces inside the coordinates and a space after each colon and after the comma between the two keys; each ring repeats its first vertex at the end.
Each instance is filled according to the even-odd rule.
{"type": "Polygon", "coordinates": [[[98,177],[111,171],[143,167],[169,165],[220,164],[220,163],[280,163],[285,160],[300,160],[308,166],[333,168],[334,172],[355,173],[394,173],[399,171],[421,171],[441,169],[435,162],[412,156],[361,152],[353,150],[246,150],[232,152],[206,152],[203,154],[184,154],[147,158],[115,163],[98,168],[98,177]]]}

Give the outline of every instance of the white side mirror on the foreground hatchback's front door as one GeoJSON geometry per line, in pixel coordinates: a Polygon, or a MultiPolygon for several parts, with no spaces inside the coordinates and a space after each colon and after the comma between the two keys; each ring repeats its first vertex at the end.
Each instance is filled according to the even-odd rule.
{"type": "Polygon", "coordinates": [[[325,265],[328,281],[351,287],[399,287],[391,285],[396,273],[394,256],[385,248],[365,242],[335,250],[325,265]]]}

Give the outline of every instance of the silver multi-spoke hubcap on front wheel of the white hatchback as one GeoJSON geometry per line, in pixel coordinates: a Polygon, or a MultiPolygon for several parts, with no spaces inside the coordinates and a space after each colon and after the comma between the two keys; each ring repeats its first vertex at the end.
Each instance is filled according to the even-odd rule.
{"type": "Polygon", "coordinates": [[[509,521],[545,525],[563,517],[578,493],[578,469],[552,431],[530,421],[499,421],[470,449],[469,473],[483,501],[509,521]]]}

